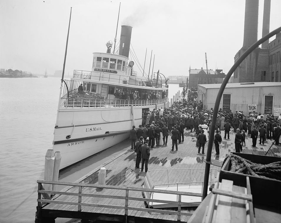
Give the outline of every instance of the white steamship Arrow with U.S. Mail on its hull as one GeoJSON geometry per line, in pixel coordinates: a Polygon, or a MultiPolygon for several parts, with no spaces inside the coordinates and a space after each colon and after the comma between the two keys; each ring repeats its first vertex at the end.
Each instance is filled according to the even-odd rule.
{"type": "MultiPolygon", "coordinates": [[[[168,104],[167,81],[148,81],[137,76],[129,61],[132,27],[122,26],[119,53],[93,53],[91,71],[74,70],[63,80],[54,128],[54,151],[61,152],[64,169],[129,137],[132,125],[142,124],[144,110],[165,108],[168,104]],[[129,100],[123,93],[157,92],[158,100],[129,100]]],[[[163,78],[164,79],[164,78],[163,78]]]]}

